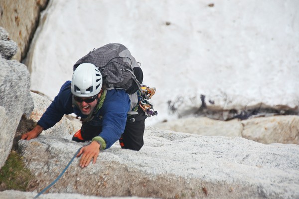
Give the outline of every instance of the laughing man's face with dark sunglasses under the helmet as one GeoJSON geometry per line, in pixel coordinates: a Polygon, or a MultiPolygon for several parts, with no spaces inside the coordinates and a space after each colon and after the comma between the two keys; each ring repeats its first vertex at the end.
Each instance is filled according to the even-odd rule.
{"type": "Polygon", "coordinates": [[[79,106],[80,111],[83,115],[89,115],[94,108],[97,106],[98,98],[101,94],[95,95],[93,97],[76,97],[74,99],[79,106]],[[87,101],[87,102],[86,102],[87,101]]]}

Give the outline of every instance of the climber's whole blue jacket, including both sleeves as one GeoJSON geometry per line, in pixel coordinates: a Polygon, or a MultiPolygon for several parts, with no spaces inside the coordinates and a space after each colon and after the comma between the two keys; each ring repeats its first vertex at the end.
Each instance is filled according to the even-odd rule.
{"type": "MultiPolygon", "coordinates": [[[[64,114],[75,113],[81,118],[86,117],[76,106],[72,106],[70,85],[71,81],[63,84],[58,95],[37,122],[44,130],[53,127],[64,114]]],[[[123,134],[128,111],[130,111],[130,98],[126,91],[119,89],[107,90],[103,106],[95,113],[95,117],[89,121],[93,126],[102,126],[102,132],[99,136],[106,141],[106,149],[110,148],[123,134]]]]}

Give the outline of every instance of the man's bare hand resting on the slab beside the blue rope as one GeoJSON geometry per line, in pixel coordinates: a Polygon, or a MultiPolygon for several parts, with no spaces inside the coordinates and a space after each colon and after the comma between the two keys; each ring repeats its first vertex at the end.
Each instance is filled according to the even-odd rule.
{"type": "Polygon", "coordinates": [[[91,142],[89,145],[82,147],[77,157],[81,156],[80,167],[87,167],[93,158],[93,164],[96,163],[98,155],[100,153],[100,144],[96,141],[91,142]]]}

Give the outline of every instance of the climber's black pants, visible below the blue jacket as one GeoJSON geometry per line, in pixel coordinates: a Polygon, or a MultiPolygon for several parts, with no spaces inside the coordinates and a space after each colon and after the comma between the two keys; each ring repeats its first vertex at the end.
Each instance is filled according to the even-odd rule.
{"type": "MultiPolygon", "coordinates": [[[[145,112],[140,107],[138,108],[138,115],[133,115],[128,118],[124,133],[119,140],[120,145],[123,149],[139,151],[143,147],[145,120],[145,112]],[[131,122],[132,120],[129,120],[133,118],[135,119],[135,122],[131,122]]],[[[101,132],[101,126],[92,126],[89,124],[89,122],[82,122],[81,137],[83,138],[83,140],[78,139],[76,134],[73,136],[72,140],[77,142],[89,141],[94,137],[99,136],[101,132]]]]}

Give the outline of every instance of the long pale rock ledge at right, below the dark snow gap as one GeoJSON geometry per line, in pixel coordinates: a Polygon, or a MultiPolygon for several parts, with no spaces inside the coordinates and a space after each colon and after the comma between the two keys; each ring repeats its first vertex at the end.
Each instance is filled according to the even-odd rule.
{"type": "Polygon", "coordinates": [[[270,144],[299,144],[299,116],[257,117],[220,121],[207,117],[183,118],[154,125],[163,130],[204,136],[240,136],[270,144]]]}

